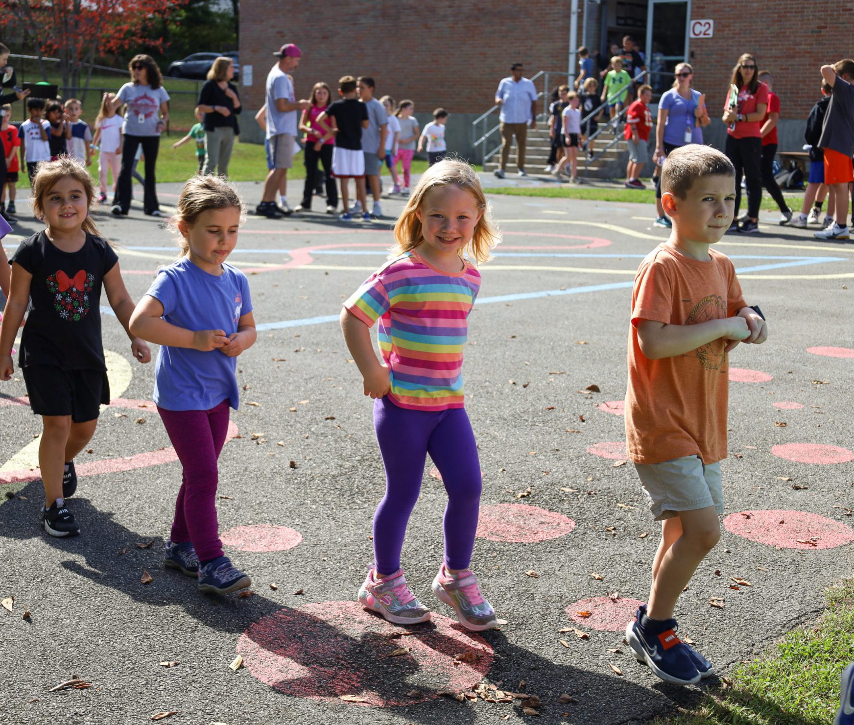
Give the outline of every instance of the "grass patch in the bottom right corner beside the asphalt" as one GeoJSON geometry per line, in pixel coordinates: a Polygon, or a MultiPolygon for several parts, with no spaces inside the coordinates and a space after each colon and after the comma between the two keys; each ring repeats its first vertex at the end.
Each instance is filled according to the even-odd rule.
{"type": "Polygon", "coordinates": [[[700,705],[657,725],[827,725],[839,674],[854,661],[854,580],[826,593],[815,623],[789,632],[763,658],[740,664],[700,705]]]}

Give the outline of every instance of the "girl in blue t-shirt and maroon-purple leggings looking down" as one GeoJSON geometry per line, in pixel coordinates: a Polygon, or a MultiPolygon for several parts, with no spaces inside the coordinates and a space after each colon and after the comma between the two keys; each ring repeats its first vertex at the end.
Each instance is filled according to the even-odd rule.
{"type": "Polygon", "coordinates": [[[219,594],[252,583],[223,554],[215,506],[228,409],[239,403],[236,358],[256,336],[246,276],[225,264],[244,213],[224,179],[191,178],[170,219],[180,257],[158,272],[131,318],[134,334],[161,345],[154,401],[184,467],[165,563],[219,594]]]}

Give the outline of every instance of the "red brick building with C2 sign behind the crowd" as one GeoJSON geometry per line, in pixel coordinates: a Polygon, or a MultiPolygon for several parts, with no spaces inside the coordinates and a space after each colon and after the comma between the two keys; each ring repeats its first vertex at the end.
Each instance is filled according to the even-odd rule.
{"type": "MultiPolygon", "coordinates": [[[[272,51],[296,43],[303,53],[294,73],[297,96],[307,97],[319,80],[334,93],[346,73],[371,75],[378,95],[411,98],[419,120],[437,106],[447,108],[449,148],[468,153],[471,120],[493,104],[512,61],[523,61],[528,77],[551,72],[549,85],[556,85],[565,81],[578,46],[606,56],[609,44],[620,43],[626,33],[646,56],[647,70],[663,73],[653,83],[659,90],[670,85],[676,62],[692,63],[694,87],[705,92],[711,108],[722,108],[735,61],[751,52],[775,75],[783,150],[803,143],[803,122],[820,97],[821,64],[854,55],[851,3],[833,0],[243,0],[242,94],[248,110],[260,108],[266,74],[276,60],[272,51]],[[574,9],[576,38],[570,38],[574,9]],[[711,37],[692,38],[692,30],[711,37]]],[[[545,80],[541,76],[538,88],[545,80]]],[[[247,131],[249,141],[254,129],[247,131]]],[[[717,145],[722,135],[722,124],[713,121],[706,141],[717,145]]]]}

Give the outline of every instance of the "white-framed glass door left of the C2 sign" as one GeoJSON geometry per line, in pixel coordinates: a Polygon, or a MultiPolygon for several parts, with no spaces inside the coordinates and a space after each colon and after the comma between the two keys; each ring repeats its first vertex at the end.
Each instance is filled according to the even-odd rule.
{"type": "Polygon", "coordinates": [[[673,85],[677,63],[687,60],[690,0],[650,0],[646,23],[646,70],[660,96],[673,85]]]}

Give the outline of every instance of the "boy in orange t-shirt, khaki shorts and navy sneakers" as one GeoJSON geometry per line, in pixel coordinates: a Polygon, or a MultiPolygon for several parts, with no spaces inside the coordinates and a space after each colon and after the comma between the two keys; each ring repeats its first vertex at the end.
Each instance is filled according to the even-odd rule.
{"type": "Polygon", "coordinates": [[[661,173],[673,220],[640,263],[632,293],[626,438],[662,539],[649,602],[626,627],[635,657],[667,682],[693,684],[711,663],[676,636],[676,599],[720,538],[727,455],[728,352],[764,342],[733,263],[711,249],[733,220],[735,170],[720,151],[688,144],[661,173]]]}

